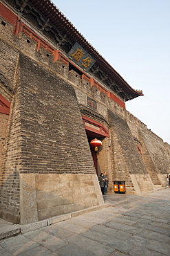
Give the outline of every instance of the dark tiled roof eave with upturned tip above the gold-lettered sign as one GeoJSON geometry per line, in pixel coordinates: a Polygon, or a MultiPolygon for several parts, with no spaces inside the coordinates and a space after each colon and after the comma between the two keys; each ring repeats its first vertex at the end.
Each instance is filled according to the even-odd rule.
{"type": "Polygon", "coordinates": [[[83,37],[83,35],[75,28],[75,26],[63,15],[63,13],[57,8],[50,0],[30,0],[30,2],[39,10],[50,23],[57,29],[61,30],[63,34],[67,35],[67,38],[71,42],[80,44],[85,50],[94,57],[98,66],[113,78],[123,88],[126,93],[129,93],[132,98],[136,98],[142,94],[142,91],[136,91],[132,89],[129,84],[119,75],[118,72],[105,60],[105,58],[96,51],[96,49],[83,37]]]}

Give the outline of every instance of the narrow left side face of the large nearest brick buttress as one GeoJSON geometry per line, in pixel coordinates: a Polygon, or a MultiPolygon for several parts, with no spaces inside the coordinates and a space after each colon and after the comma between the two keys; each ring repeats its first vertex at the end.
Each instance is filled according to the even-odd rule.
{"type": "Polygon", "coordinates": [[[21,165],[21,149],[19,138],[19,115],[17,111],[17,94],[10,109],[10,120],[6,149],[4,150],[1,168],[1,210],[19,215],[19,167],[21,165]],[[15,101],[16,100],[16,101],[15,101]]]}

